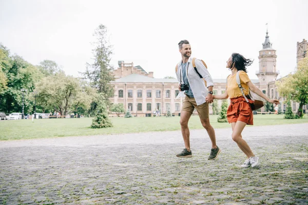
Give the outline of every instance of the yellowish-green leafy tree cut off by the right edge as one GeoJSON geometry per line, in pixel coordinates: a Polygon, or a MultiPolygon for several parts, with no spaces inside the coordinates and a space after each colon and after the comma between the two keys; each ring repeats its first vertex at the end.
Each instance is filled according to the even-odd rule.
{"type": "Polygon", "coordinates": [[[301,118],[303,116],[302,108],[308,103],[308,57],[301,59],[295,73],[281,78],[277,82],[277,86],[281,96],[299,103],[296,115],[301,118]]]}

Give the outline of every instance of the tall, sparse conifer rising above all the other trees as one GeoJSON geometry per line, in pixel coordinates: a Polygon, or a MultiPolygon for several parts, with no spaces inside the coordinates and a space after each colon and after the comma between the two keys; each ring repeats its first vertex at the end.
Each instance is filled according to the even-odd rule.
{"type": "Polygon", "coordinates": [[[108,100],[114,94],[114,88],[110,84],[114,77],[110,73],[112,51],[111,46],[108,45],[107,28],[102,24],[99,25],[93,36],[96,38],[95,48],[92,50],[94,63],[87,64],[86,72],[83,74],[90,80],[90,85],[102,93],[105,100],[108,100]]]}

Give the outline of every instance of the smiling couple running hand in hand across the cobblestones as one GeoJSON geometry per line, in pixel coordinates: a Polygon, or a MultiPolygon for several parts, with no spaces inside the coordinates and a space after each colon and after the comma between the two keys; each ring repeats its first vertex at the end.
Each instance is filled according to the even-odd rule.
{"type": "Polygon", "coordinates": [[[191,47],[188,40],[181,40],[178,45],[182,59],[176,67],[176,75],[179,81],[179,90],[181,91],[178,97],[185,97],[180,118],[185,149],[177,154],[177,157],[192,157],[188,120],[194,109],[197,110],[201,124],[206,129],[211,140],[211,151],[208,159],[212,160],[218,157],[221,150],[216,145],[215,130],[209,123],[208,104],[213,103],[214,99],[226,99],[229,97],[230,105],[227,110],[227,119],[232,126],[232,139],[247,157],[241,167],[256,167],[259,164],[259,157],[255,156],[241,135],[246,125],[254,124],[252,108],[243,94],[248,95],[249,89],[251,89],[269,103],[279,104],[279,100],[269,99],[251,82],[246,74],[246,66],[250,66],[253,61],[244,58],[238,53],[233,53],[226,62],[226,68],[231,71],[231,74],[227,77],[225,92],[221,95],[213,95],[214,83],[207,71],[206,64],[202,60],[191,57],[191,47]],[[237,83],[237,72],[239,72],[243,93],[237,83]]]}

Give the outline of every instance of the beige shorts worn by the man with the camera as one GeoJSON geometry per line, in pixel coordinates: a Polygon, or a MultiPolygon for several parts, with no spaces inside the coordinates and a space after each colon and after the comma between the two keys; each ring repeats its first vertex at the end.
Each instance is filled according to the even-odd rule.
{"type": "Polygon", "coordinates": [[[186,96],[184,98],[182,111],[187,111],[192,114],[194,112],[194,109],[196,108],[200,119],[207,119],[208,118],[208,103],[201,104],[197,106],[196,100],[194,97],[188,97],[186,96]]]}

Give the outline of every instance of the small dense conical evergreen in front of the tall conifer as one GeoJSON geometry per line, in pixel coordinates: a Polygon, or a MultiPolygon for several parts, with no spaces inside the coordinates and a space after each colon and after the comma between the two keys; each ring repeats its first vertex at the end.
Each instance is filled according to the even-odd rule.
{"type": "Polygon", "coordinates": [[[99,100],[97,101],[97,115],[92,120],[91,128],[109,128],[113,127],[112,122],[108,118],[107,106],[105,104],[105,99],[102,94],[99,95],[99,100]]]}

